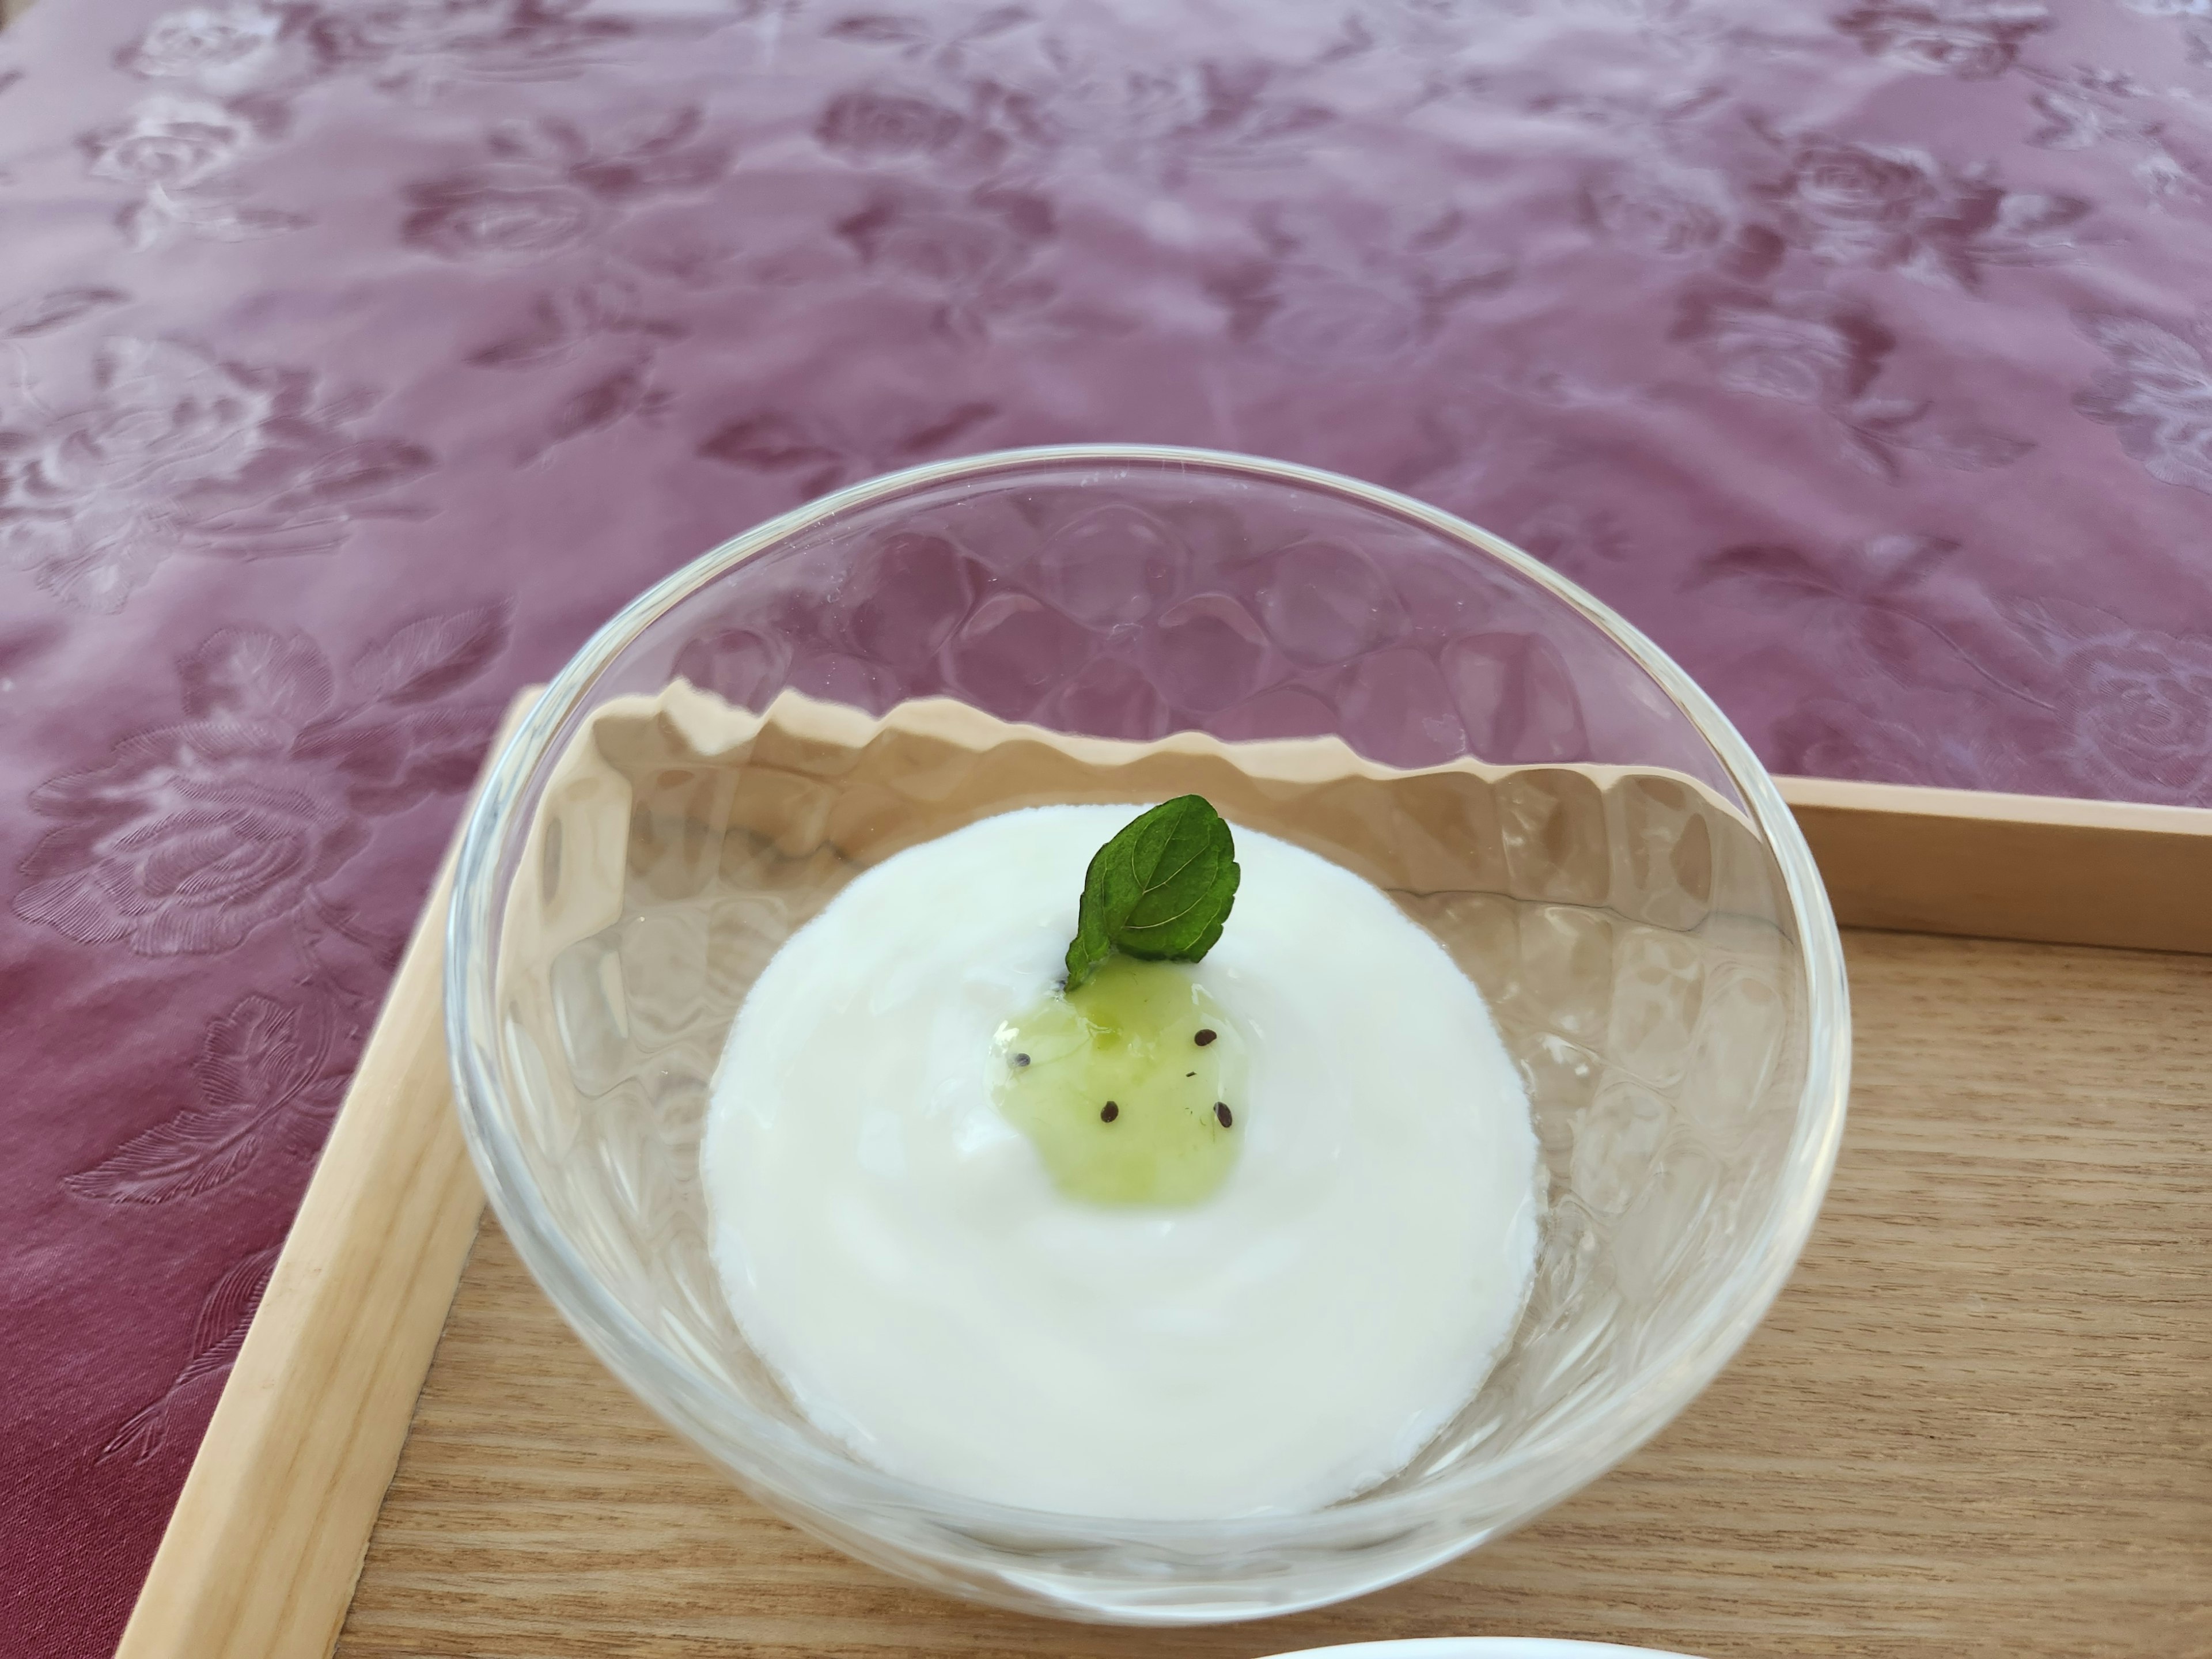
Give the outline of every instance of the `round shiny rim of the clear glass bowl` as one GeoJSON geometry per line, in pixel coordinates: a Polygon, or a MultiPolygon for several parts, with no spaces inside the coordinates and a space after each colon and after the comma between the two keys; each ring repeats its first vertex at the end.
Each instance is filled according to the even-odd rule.
{"type": "MultiPolygon", "coordinates": [[[[1719,706],[1659,646],[1608,606],[1513,544],[1409,495],[1294,462],[1157,445],[1000,449],[885,473],[823,495],[723,542],[615,613],[546,686],[507,748],[491,763],[478,803],[469,814],[456,867],[453,905],[447,918],[447,1042],[453,1057],[456,1099],[469,1152],[476,1159],[502,1225],[531,1274],[546,1287],[564,1318],[624,1383],[695,1440],[712,1440],[708,1447],[712,1455],[737,1471],[741,1480],[774,1493],[787,1493],[794,1502],[810,1509],[830,1506],[823,1504],[823,1491],[827,1489],[836,1493],[836,1504],[860,1513],[907,1511],[925,1513],[962,1531],[1048,1535],[1055,1542],[1088,1546],[1135,1544],[1181,1551],[1203,1544],[1221,1546],[1228,1540],[1234,1540],[1239,1548],[1327,1546],[1336,1535],[1349,1531],[1374,1537],[1380,1528],[1396,1522],[1416,1526],[1425,1520],[1436,1520],[1438,1511],[1449,1511],[1453,1498],[1462,1491],[1495,1486],[1513,1475],[1526,1482],[1526,1502],[1513,1504],[1513,1513],[1504,1522],[1484,1526],[1453,1546],[1427,1551],[1420,1559],[1394,1559],[1367,1588],[1383,1588],[1385,1584],[1413,1577],[1542,1513],[1632,1453],[1728,1365],[1781,1292],[1812,1232],[1820,1199],[1827,1192],[1829,1172],[1836,1164],[1849,1093],[1849,1002],[1843,942],[1836,933],[1836,920],[1829,911],[1827,891],[1820,885],[1812,852],[1805,847],[1796,818],[1750,745],[1719,706]],[[1670,1349],[1652,1356],[1630,1387],[1606,1400],[1597,1416],[1577,1425],[1573,1433],[1535,1438],[1495,1462],[1444,1471],[1407,1491],[1349,1498],[1329,1509],[1298,1515],[1248,1515],[1214,1522],[1119,1522],[956,1498],[933,1486],[920,1486],[836,1458],[792,1433],[785,1425],[710,1387],[666,1343],[639,1325],[593,1279],[568,1241],[544,1221],[544,1206],[524,1166],[522,1150],[502,1126],[498,1113],[491,1110],[491,1102],[502,1088],[491,1033],[498,1029],[493,1009],[493,945],[498,938],[498,905],[502,900],[495,887],[498,863],[515,827],[511,818],[518,803],[553,759],[549,752],[553,737],[584,706],[606,666],[641,630],[723,571],[787,535],[922,487],[964,478],[1009,478],[1022,471],[1068,465],[1188,469],[1321,489],[1391,518],[1427,526],[1480,555],[1504,562],[1517,575],[1551,591],[1557,599],[1588,617],[1652,677],[1705,743],[1710,743],[1730,781],[1741,792],[1759,832],[1772,847],[1783,872],[1798,945],[1805,956],[1807,1002],[1805,1093],[1798,1102],[1798,1121],[1778,1179],[1774,1210],[1763,1237],[1745,1252],[1743,1270],[1730,1279],[1730,1294],[1712,1303],[1708,1310],[1710,1316],[1692,1325],[1670,1349]],[[710,1431],[708,1425],[717,1420],[734,1425],[737,1433],[710,1431]],[[805,1489],[803,1495],[801,1489],[805,1489]]],[[[847,1542],[849,1546],[852,1542],[847,1542]]],[[[1287,1613],[1296,1606],[1336,1601],[1343,1595],[1345,1590],[1329,1590],[1310,1601],[1287,1601],[1276,1610],[1287,1613]]]]}

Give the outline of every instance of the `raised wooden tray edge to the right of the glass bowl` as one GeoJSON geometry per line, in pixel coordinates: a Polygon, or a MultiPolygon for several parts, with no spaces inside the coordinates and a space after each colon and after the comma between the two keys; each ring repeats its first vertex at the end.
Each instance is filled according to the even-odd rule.
{"type": "Polygon", "coordinates": [[[1776,779],[1836,920],[2212,951],[2212,812],[1776,779]]]}

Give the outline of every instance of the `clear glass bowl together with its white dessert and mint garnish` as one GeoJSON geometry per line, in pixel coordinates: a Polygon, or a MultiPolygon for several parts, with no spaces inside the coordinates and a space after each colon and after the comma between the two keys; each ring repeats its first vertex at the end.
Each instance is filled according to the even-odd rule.
{"type": "Polygon", "coordinates": [[[1725,1363],[1843,1119],[1834,922],[1648,641],[1389,491],[1135,447],[832,495],[498,759],[456,1077],[750,1491],[1064,1617],[1407,1577],[1725,1363]]]}

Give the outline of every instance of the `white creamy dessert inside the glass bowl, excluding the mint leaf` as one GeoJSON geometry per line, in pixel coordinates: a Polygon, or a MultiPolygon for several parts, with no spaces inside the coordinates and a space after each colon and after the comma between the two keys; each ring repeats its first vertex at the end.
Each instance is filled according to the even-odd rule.
{"type": "MultiPolygon", "coordinates": [[[[1082,1073],[1051,1082],[1018,1046],[1024,1011],[1135,812],[984,818],[783,945],[714,1075],[714,1263],[794,1402],[894,1475],[1102,1517],[1316,1509],[1405,1467],[1511,1336],[1535,1265],[1528,1102],[1436,940],[1237,830],[1219,942],[1144,964],[1146,995],[1188,1004],[1188,1068],[1161,1048],[1161,1099],[1084,1104],[1048,1139],[1020,1073],[1082,1073]],[[1082,1197],[1068,1161],[1157,1113],[1183,1113],[1175,1168],[1201,1177],[1179,1201],[1082,1197]]],[[[1121,993],[1113,964],[1093,984],[1121,993]]]]}

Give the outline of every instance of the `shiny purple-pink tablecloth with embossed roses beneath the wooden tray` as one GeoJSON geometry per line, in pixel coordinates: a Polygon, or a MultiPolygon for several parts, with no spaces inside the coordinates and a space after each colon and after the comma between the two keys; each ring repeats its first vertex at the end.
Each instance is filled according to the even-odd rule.
{"type": "Polygon", "coordinates": [[[2203,11],[40,0],[0,1650],[113,1644],[507,692],[841,480],[1312,460],[1778,768],[2212,803],[2203,11]]]}

